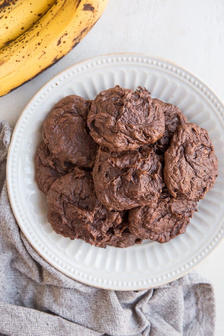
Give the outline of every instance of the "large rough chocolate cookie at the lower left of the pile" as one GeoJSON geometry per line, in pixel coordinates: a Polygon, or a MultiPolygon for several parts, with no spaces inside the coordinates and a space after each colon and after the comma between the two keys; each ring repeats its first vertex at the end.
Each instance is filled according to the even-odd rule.
{"type": "MultiPolygon", "coordinates": [[[[95,246],[118,244],[111,241],[114,230],[122,223],[123,212],[109,211],[97,200],[89,172],[79,168],[61,178],[50,187],[47,194],[48,221],[54,231],[71,239],[83,239],[95,246]]],[[[120,235],[124,231],[120,228],[120,235]]],[[[133,237],[130,234],[130,244],[133,237]]],[[[135,237],[135,240],[138,241],[135,237]]],[[[127,244],[128,241],[124,242],[127,244]]]]}

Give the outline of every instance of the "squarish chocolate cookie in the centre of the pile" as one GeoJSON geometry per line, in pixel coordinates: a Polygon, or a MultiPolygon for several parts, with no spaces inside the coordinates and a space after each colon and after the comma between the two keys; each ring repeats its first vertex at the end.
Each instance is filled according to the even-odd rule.
{"type": "Polygon", "coordinates": [[[109,210],[157,202],[162,191],[160,157],[149,146],[122,153],[100,147],[92,175],[96,196],[109,210]]]}

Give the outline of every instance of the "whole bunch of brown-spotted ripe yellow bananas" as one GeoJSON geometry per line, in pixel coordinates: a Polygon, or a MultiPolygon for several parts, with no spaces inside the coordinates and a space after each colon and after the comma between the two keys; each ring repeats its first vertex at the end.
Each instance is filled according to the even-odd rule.
{"type": "Polygon", "coordinates": [[[74,48],[108,0],[0,0],[0,96],[74,48]]]}

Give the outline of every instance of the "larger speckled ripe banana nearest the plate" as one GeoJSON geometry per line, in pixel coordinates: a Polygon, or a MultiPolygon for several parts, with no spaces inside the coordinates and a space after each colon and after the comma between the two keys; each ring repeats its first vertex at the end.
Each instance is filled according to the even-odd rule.
{"type": "Polygon", "coordinates": [[[30,30],[0,50],[0,96],[29,81],[75,47],[108,0],[58,0],[30,30]]]}

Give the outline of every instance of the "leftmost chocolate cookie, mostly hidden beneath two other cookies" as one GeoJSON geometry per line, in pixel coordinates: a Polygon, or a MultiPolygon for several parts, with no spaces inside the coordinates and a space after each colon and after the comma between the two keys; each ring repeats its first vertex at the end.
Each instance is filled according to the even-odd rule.
{"type": "Polygon", "coordinates": [[[65,175],[68,170],[58,160],[52,157],[44,142],[39,146],[36,161],[36,181],[40,190],[46,195],[51,184],[58,178],[65,175]]]}

